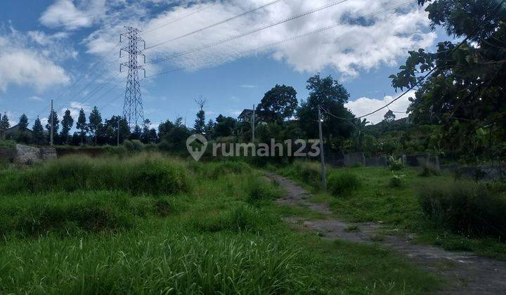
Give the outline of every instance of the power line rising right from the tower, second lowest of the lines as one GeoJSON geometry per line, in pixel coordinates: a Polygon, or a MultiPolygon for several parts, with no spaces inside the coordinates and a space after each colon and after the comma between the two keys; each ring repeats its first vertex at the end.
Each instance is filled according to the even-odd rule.
{"type": "Polygon", "coordinates": [[[346,1],[349,1],[349,0],[340,0],[340,1],[335,1],[335,2],[332,2],[331,4],[327,4],[327,5],[325,5],[325,6],[320,6],[320,7],[318,7],[318,8],[311,9],[310,11],[306,11],[306,12],[304,12],[304,13],[299,13],[299,14],[297,14],[297,15],[292,15],[290,18],[285,18],[285,19],[283,19],[283,20],[279,20],[278,22],[273,22],[273,23],[271,23],[271,24],[269,24],[269,25],[264,25],[264,26],[262,26],[262,27],[258,27],[257,29],[252,29],[252,30],[250,30],[250,31],[248,31],[248,32],[244,32],[244,33],[242,33],[242,34],[237,34],[237,35],[235,35],[235,36],[233,36],[233,37],[228,37],[228,38],[226,38],[226,39],[221,39],[221,40],[216,41],[216,42],[213,42],[213,43],[211,43],[211,44],[206,44],[206,45],[203,45],[203,46],[199,46],[199,47],[197,47],[197,48],[193,48],[193,49],[190,49],[190,50],[187,50],[187,51],[183,51],[183,52],[181,52],[181,53],[176,53],[176,54],[174,54],[174,55],[169,55],[169,56],[167,56],[167,57],[165,57],[165,58],[159,58],[159,59],[157,59],[157,60],[153,60],[153,61],[151,61],[151,62],[149,62],[149,63],[150,63],[150,64],[153,64],[153,63],[161,63],[161,62],[163,62],[163,61],[165,61],[165,60],[171,60],[171,59],[174,59],[174,58],[179,58],[179,57],[181,57],[181,56],[183,56],[183,55],[188,55],[188,54],[190,54],[190,53],[195,53],[195,52],[197,52],[197,51],[202,51],[203,49],[207,49],[207,48],[211,48],[211,47],[214,47],[214,46],[218,46],[218,45],[224,44],[224,43],[226,43],[226,42],[233,41],[233,40],[235,40],[235,39],[240,39],[240,38],[245,37],[245,36],[248,36],[248,35],[250,35],[250,34],[254,34],[254,33],[260,32],[260,31],[262,31],[262,30],[264,30],[264,29],[269,29],[269,28],[271,28],[271,27],[275,27],[275,26],[277,26],[277,25],[281,25],[281,24],[283,24],[283,23],[285,23],[285,22],[289,22],[289,21],[291,21],[291,20],[296,20],[296,19],[298,19],[298,18],[302,18],[302,17],[304,17],[304,16],[306,16],[306,15],[310,15],[310,14],[312,14],[312,13],[316,13],[316,12],[318,12],[318,11],[323,11],[323,10],[325,10],[325,9],[327,9],[327,8],[331,8],[332,6],[336,6],[336,5],[338,5],[338,4],[342,4],[342,3],[346,2],[346,1]]]}

